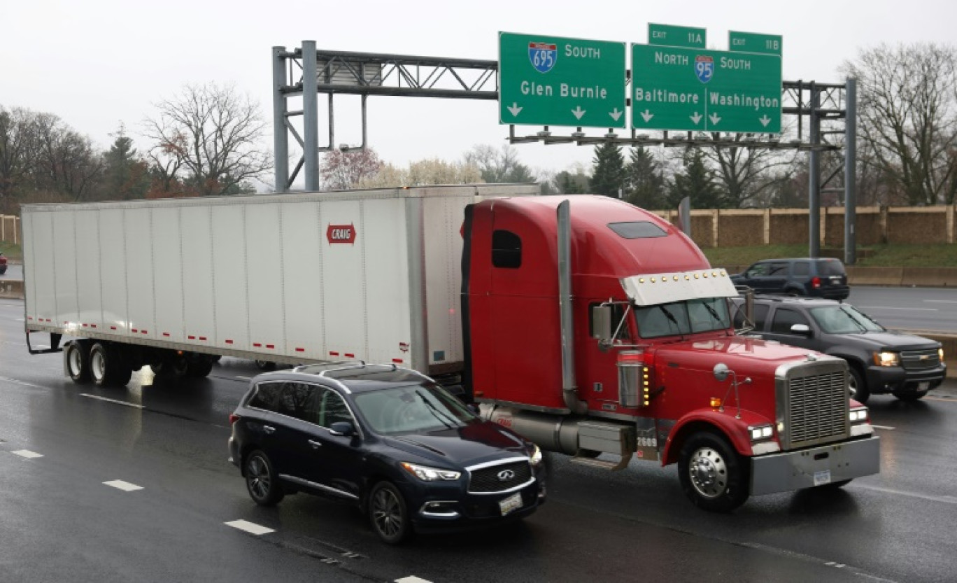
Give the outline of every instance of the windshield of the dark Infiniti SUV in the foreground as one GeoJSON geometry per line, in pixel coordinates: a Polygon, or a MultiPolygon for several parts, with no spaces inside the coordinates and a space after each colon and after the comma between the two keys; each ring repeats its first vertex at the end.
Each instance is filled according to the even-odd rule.
{"type": "Polygon", "coordinates": [[[437,385],[410,385],[356,393],[356,407],[384,436],[463,427],[479,417],[437,385]]]}

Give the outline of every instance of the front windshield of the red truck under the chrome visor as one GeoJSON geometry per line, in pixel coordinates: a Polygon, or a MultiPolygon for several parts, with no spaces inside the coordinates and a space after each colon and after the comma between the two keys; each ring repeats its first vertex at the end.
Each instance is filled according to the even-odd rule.
{"type": "Polygon", "coordinates": [[[640,306],[635,308],[634,318],[642,338],[710,332],[731,325],[724,298],[640,306]]]}

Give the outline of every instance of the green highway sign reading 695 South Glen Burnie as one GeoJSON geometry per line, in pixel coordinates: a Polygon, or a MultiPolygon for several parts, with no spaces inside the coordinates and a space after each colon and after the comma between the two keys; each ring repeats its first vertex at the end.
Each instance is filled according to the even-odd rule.
{"type": "Polygon", "coordinates": [[[501,123],[625,127],[625,43],[499,33],[501,123]]]}

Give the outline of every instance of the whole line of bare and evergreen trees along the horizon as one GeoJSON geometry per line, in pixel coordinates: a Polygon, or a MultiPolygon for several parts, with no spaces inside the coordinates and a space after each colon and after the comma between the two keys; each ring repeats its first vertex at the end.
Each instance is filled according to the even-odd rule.
{"type": "MultiPolygon", "coordinates": [[[[957,193],[957,52],[923,43],[860,51],[840,73],[857,79],[858,205],[953,204],[957,193]]],[[[23,202],[251,193],[273,169],[258,106],[231,86],[186,86],[142,123],[139,151],[121,124],[100,151],[56,115],[0,104],[0,213],[23,202]]],[[[790,130],[786,128],[784,137],[790,130]]],[[[739,135],[738,139],[743,136],[739,135]]],[[[841,138],[838,137],[837,140],[841,138]]],[[[790,207],[808,203],[807,155],[746,146],[595,146],[591,165],[525,166],[513,146],[473,146],[460,160],[398,168],[372,149],[323,154],[323,190],[471,182],[538,182],[544,193],[593,192],[649,209],[790,207]]],[[[822,204],[842,204],[843,154],[822,204]]]]}

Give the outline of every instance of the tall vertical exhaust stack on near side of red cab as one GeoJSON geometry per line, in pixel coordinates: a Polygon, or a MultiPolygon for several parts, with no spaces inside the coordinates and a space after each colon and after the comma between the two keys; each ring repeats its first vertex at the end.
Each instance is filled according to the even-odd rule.
{"type": "Polygon", "coordinates": [[[558,308],[562,326],[562,396],[574,414],[584,414],[588,403],[578,399],[575,384],[574,325],[571,319],[571,203],[558,205],[558,308]]]}

